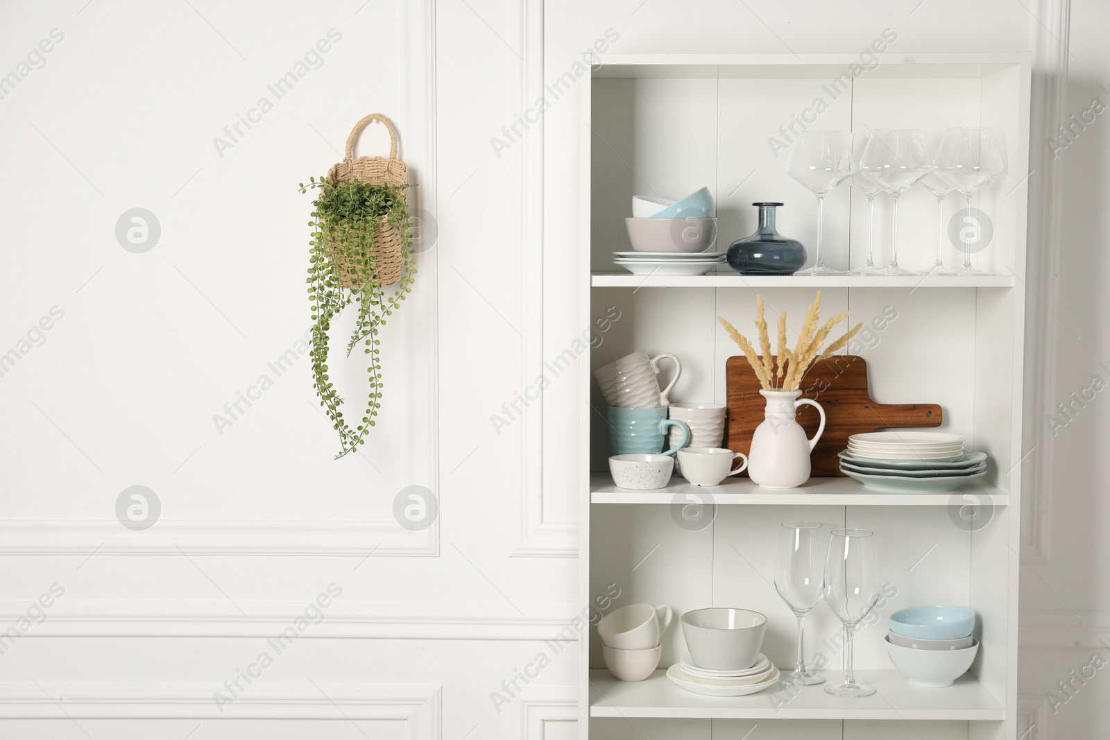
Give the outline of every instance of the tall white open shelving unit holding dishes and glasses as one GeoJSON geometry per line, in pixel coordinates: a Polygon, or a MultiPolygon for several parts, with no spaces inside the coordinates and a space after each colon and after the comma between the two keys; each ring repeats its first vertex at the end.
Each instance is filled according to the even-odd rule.
{"type": "MultiPolygon", "coordinates": [[[[582,81],[581,316],[595,327],[604,320],[605,328],[595,332],[598,341],[579,377],[581,607],[596,618],[624,604],[667,604],[676,615],[664,638],[660,670],[640,683],[615,680],[604,668],[596,629],[587,630],[579,667],[582,738],[714,740],[730,731],[717,729],[717,722],[759,720],[774,737],[1017,740],[1019,470],[1028,452],[1021,449],[1021,386],[1030,59],[888,53],[831,95],[830,81],[857,62],[856,55],[609,55],[582,81]],[[816,98],[825,99],[827,110],[814,128],[1000,131],[1009,171],[975,202],[993,236],[973,260],[995,274],[749,277],[719,268],[687,277],[614,267],[610,253],[629,249],[624,219],[633,194],[679,197],[703,185],[717,201],[716,250],[755,231],[749,204],[758,201],[786,203],[778,231],[814,244],[816,202],[785,174],[785,154],[776,158],[770,139],[781,141],[779,126],[789,131],[816,98]],[[852,354],[868,363],[871,397],[940,404],[940,428],[966,435],[969,447],[986,452],[988,476],[955,495],[877,494],[851,478],[814,478],[788,491],[763,489],[748,478],[695,488],[677,474],[658,491],[613,485],[605,402],[589,371],[639,348],[672,352],[683,361],[673,401],[724,403],[725,362],[739,353],[716,316],[750,332],[759,293],[771,323],[783,310],[800,321],[818,290],[823,316],[851,311],[850,321],[867,326],[852,354]],[[705,510],[694,523],[679,514],[690,503],[705,510]],[[969,511],[978,516],[971,523],[961,518],[969,511]],[[795,620],[771,585],[779,524],[793,519],[876,533],[886,597],[859,630],[855,665],[877,693],[842,699],[817,686],[791,689],[793,696],[767,690],[714,699],[672,685],[662,669],[686,649],[677,616],[707,606],[766,614],[764,652],[780,668],[793,667],[795,620]],[[614,588],[619,596],[603,609],[597,597],[614,588]],[[962,605],[979,615],[979,655],[950,688],[909,686],[882,649],[889,615],[920,604],[962,605]]],[[[882,265],[890,209],[889,200],[880,199],[875,233],[882,265]]],[[[955,196],[946,207],[946,219],[959,217],[955,196]]],[[[831,193],[825,205],[826,263],[840,270],[861,265],[867,234],[866,201],[847,186],[831,193]]],[[[937,234],[931,195],[914,189],[902,197],[898,234],[904,266],[931,264],[937,234]]],[[[961,256],[950,247],[946,253],[952,266],[961,256]]],[[[791,337],[797,321],[790,322],[791,337]]],[[[807,655],[830,681],[840,676],[839,629],[824,605],[807,625],[807,655]]]]}

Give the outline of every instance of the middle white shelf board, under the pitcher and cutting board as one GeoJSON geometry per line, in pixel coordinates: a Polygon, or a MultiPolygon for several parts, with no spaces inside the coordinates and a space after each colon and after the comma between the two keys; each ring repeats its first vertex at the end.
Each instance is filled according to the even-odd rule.
{"type": "MultiPolygon", "coordinates": [[[[675,474],[666,488],[632,490],[614,485],[608,473],[591,473],[589,500],[593,504],[673,504],[678,494],[708,494],[719,505],[794,505],[794,506],[949,506],[952,496],[970,495],[980,503],[1007,506],[1010,495],[981,480],[975,480],[957,491],[944,494],[880,494],[864,487],[854,478],[810,478],[797,488],[776,490],[761,488],[751,478],[725,478],[719,486],[692,486],[675,474]]],[[[709,501],[705,501],[709,503],[709,501]]]]}

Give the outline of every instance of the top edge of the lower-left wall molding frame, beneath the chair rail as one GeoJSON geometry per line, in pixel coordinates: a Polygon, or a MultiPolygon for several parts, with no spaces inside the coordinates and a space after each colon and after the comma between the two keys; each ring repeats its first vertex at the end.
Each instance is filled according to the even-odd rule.
{"type": "Polygon", "coordinates": [[[440,686],[256,683],[222,712],[212,698],[218,689],[206,683],[0,683],[0,718],[404,720],[413,740],[443,734],[440,686]]]}

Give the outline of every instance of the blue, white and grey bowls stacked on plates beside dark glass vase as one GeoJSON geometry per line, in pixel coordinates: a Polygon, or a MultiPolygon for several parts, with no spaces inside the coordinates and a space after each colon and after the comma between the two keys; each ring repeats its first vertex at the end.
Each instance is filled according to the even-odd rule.
{"type": "Polygon", "coordinates": [[[725,264],[709,252],[717,239],[717,206],[708,187],[679,201],[637,195],[625,219],[632,252],[614,252],[613,263],[637,275],[704,275],[725,264]]]}

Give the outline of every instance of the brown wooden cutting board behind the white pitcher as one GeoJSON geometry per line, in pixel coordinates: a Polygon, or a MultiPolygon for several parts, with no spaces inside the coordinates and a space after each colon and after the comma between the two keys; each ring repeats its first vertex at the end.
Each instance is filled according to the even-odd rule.
{"type": "MultiPolygon", "coordinates": [[[[728,393],[725,447],[746,455],[751,448],[751,435],[764,420],[767,404],[759,395],[759,379],[743,355],[728,358],[725,383],[728,393]]],[[[944,420],[937,404],[877,404],[871,401],[867,388],[867,362],[859,355],[837,355],[815,362],[806,373],[801,389],[801,396],[813,398],[825,409],[825,433],[810,455],[810,475],[817,477],[844,475],[837,453],[848,446],[850,435],[940,426],[944,420]]],[[[807,437],[814,436],[819,423],[820,416],[813,406],[807,404],[798,409],[798,424],[805,428],[807,437]]]]}

